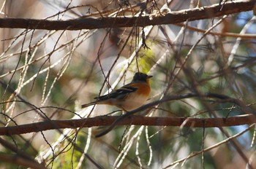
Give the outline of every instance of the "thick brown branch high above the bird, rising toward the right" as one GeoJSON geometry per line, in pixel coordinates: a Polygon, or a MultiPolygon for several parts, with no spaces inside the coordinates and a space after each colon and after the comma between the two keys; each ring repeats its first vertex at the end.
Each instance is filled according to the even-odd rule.
{"type": "Polygon", "coordinates": [[[223,5],[223,7],[220,7],[219,4],[214,4],[208,7],[185,9],[177,12],[170,12],[162,17],[154,17],[153,20],[150,20],[148,15],[140,17],[87,17],[75,20],[32,20],[21,18],[0,18],[0,28],[80,30],[172,24],[181,23],[186,20],[202,20],[211,17],[234,14],[237,12],[249,11],[252,10],[255,2],[255,0],[228,1],[223,5]]]}

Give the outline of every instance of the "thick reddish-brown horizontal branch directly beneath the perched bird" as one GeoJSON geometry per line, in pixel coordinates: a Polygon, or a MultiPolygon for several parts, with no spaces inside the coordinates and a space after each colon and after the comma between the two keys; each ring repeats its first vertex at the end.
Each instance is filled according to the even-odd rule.
{"type": "MultiPolygon", "coordinates": [[[[0,135],[16,135],[43,130],[109,126],[117,117],[100,116],[86,119],[51,120],[35,122],[28,125],[0,127],[0,135]]],[[[246,114],[227,118],[190,118],[190,117],[143,117],[132,115],[118,122],[117,125],[150,125],[150,126],[186,126],[186,127],[227,127],[235,125],[250,125],[256,123],[256,116],[246,114]]]]}

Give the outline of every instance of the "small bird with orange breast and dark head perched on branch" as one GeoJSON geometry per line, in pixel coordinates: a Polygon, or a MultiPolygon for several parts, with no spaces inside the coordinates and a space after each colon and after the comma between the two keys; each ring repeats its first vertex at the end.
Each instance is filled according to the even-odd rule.
{"type": "Polygon", "coordinates": [[[132,82],[123,87],[113,90],[108,95],[101,95],[91,103],[83,104],[82,108],[94,104],[107,104],[116,106],[124,111],[131,111],[139,108],[146,102],[151,91],[149,79],[152,76],[137,72],[133,76],[132,82]]]}

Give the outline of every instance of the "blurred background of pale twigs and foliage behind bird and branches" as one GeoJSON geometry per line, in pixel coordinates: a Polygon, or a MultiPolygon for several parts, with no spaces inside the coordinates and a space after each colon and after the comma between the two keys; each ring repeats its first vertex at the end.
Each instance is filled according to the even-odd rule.
{"type": "MultiPolygon", "coordinates": [[[[144,4],[142,15],[150,15],[161,9],[178,11],[219,1],[0,1],[0,16],[39,20],[125,17],[140,15],[144,4]]],[[[252,11],[144,28],[1,28],[0,37],[1,127],[111,112],[120,115],[115,107],[96,106],[91,111],[91,107],[80,109],[80,105],[127,84],[137,71],[154,76],[148,103],[164,95],[210,92],[238,98],[255,109],[256,27],[252,11]],[[204,35],[209,28],[210,33],[204,35]]],[[[162,103],[138,114],[214,117],[210,110],[217,117],[244,114],[233,103],[203,98],[162,103]]],[[[234,139],[241,152],[225,141],[228,136],[223,130],[232,136],[247,127],[121,126],[102,138],[94,135],[104,128],[92,127],[1,138],[47,168],[96,168],[90,158],[102,168],[245,168],[242,156],[252,160],[255,156],[255,130],[234,139]],[[189,157],[220,141],[225,143],[189,157]]],[[[0,149],[1,154],[15,157],[10,149],[1,145],[0,149]]],[[[0,160],[0,166],[17,168],[18,164],[0,160]]]]}

